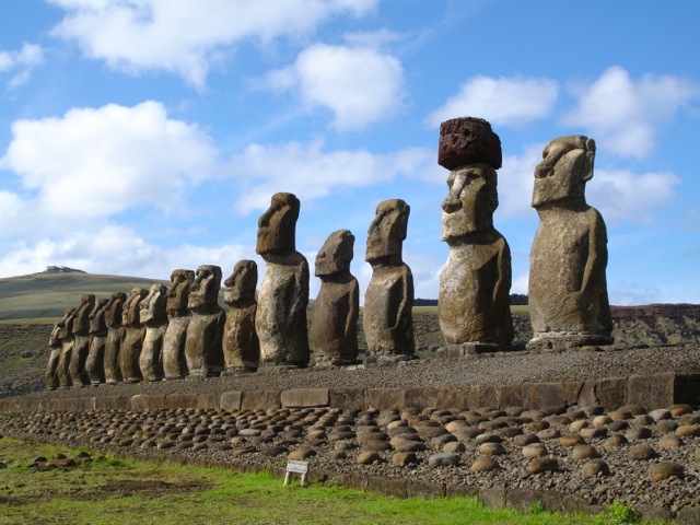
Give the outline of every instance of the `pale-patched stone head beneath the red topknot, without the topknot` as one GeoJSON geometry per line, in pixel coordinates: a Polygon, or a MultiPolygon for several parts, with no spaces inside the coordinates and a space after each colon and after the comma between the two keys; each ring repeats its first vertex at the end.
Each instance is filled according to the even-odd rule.
{"type": "Polygon", "coordinates": [[[447,243],[493,228],[499,206],[497,174],[488,164],[470,164],[450,172],[450,192],[442,203],[441,238],[447,243]]]}

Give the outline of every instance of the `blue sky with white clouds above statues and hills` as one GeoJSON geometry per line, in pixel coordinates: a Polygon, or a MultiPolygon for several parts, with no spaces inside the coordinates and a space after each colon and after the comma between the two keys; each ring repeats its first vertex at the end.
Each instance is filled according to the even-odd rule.
{"type": "MultiPolygon", "coordinates": [[[[364,290],[376,205],[436,298],[439,124],[501,137],[495,228],[527,290],[533,171],[596,140],[612,304],[700,302],[700,3],[639,0],[0,0],[0,277],[62,265],[167,279],[255,255],[276,191],[313,265],[351,230],[364,290]]],[[[315,296],[319,282],[312,278],[315,296]]]]}

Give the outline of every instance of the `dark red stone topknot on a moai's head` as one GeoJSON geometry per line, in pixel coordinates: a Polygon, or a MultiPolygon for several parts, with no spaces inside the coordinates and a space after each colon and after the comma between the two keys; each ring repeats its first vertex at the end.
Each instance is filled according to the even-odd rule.
{"type": "Polygon", "coordinates": [[[481,118],[459,117],[440,125],[438,164],[455,170],[465,164],[485,163],[501,167],[501,139],[481,118]]]}

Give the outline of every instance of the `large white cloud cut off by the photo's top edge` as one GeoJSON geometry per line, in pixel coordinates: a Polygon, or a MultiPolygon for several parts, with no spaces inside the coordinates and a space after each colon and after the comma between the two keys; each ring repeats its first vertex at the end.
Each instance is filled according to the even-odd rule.
{"type": "Polygon", "coordinates": [[[362,16],[377,0],[48,0],[67,11],[55,36],[128,72],[165,70],[202,88],[212,63],[246,39],[308,34],[332,15],[362,16]]]}

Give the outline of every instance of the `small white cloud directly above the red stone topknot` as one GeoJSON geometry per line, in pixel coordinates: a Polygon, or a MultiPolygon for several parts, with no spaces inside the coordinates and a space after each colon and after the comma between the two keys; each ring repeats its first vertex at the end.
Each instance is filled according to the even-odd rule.
{"type": "Polygon", "coordinates": [[[467,80],[456,95],[428,116],[431,126],[450,118],[486,118],[497,126],[522,126],[547,117],[557,102],[559,86],[549,79],[477,75],[467,80]]]}

